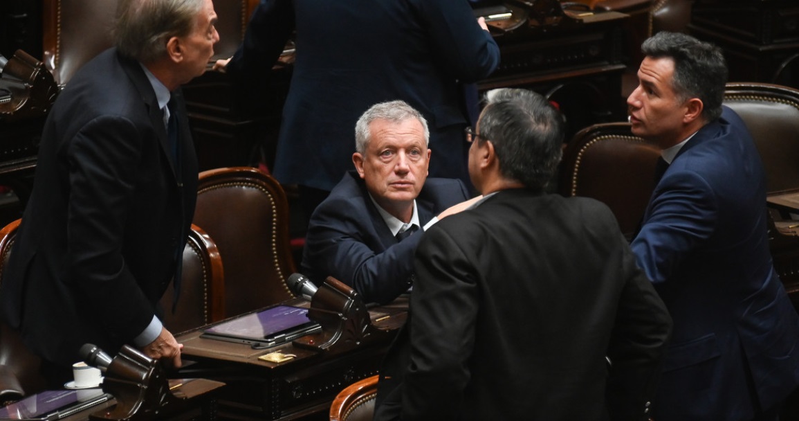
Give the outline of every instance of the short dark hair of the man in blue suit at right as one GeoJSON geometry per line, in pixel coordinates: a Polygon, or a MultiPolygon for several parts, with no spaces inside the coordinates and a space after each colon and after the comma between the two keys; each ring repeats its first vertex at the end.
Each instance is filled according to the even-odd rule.
{"type": "Polygon", "coordinates": [[[641,51],[651,58],[674,60],[672,86],[678,98],[702,100],[702,117],[708,122],[721,116],[728,70],[718,46],[686,34],[658,32],[643,42],[641,51]]]}

